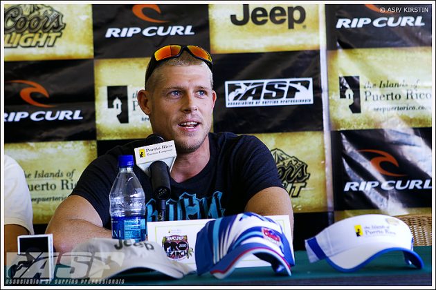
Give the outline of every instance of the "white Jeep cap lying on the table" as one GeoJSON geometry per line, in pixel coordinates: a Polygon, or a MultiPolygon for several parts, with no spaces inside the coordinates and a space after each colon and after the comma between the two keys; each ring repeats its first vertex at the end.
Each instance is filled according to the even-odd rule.
{"type": "MultiPolygon", "coordinates": [[[[195,272],[187,264],[170,260],[156,242],[91,238],[78,244],[71,255],[84,256],[91,263],[87,277],[82,277],[84,271],[73,271],[71,278],[106,279],[136,268],[156,270],[176,279],[195,272]]],[[[80,267],[83,261],[83,257],[71,259],[71,267],[80,267]]]]}

